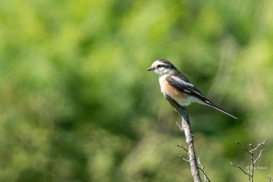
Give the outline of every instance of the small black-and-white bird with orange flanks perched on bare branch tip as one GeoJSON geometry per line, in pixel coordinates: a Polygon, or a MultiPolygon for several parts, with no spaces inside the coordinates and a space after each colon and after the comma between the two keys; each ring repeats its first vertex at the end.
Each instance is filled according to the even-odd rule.
{"type": "Polygon", "coordinates": [[[147,71],[154,71],[159,76],[161,92],[174,99],[180,106],[188,106],[192,102],[211,106],[223,113],[238,119],[221,107],[213,104],[184,76],[170,61],[156,60],[147,71]]]}

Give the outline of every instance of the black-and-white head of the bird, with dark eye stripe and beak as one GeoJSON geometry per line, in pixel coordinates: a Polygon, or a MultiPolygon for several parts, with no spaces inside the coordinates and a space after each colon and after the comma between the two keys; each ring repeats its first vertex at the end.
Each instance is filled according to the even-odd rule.
{"type": "Polygon", "coordinates": [[[156,60],[147,71],[153,70],[159,77],[163,75],[169,75],[173,71],[177,70],[177,68],[166,59],[158,59],[156,60]]]}

